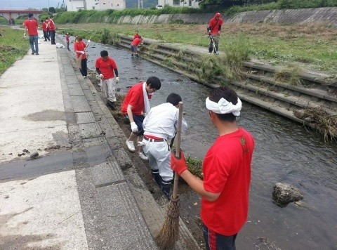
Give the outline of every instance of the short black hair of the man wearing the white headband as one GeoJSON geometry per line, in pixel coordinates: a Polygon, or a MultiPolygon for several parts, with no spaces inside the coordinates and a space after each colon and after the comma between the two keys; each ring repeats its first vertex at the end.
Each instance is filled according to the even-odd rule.
{"type": "MultiPolygon", "coordinates": [[[[226,86],[220,86],[218,88],[213,88],[209,93],[209,100],[214,103],[218,103],[221,98],[225,98],[228,102],[233,105],[237,104],[237,93],[233,91],[231,88],[226,86]]],[[[230,121],[233,122],[237,119],[234,114],[216,114],[221,121],[230,121]]]]}

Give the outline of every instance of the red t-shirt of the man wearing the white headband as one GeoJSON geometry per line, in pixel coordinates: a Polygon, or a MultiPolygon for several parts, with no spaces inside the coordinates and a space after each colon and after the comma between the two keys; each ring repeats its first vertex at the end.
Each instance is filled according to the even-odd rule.
{"type": "Polygon", "coordinates": [[[246,223],[254,144],[240,128],[219,136],[204,158],[204,188],[220,196],[215,202],[201,199],[201,221],[220,235],[235,235],[246,223]]]}

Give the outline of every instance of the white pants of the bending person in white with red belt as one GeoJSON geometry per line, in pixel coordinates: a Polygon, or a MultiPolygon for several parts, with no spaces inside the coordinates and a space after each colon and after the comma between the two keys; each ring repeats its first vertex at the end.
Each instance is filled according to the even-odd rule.
{"type": "Polygon", "coordinates": [[[169,145],[166,141],[152,142],[143,140],[143,151],[149,157],[151,169],[159,170],[159,175],[165,181],[173,179],[173,171],[171,169],[171,154],[169,145]]]}

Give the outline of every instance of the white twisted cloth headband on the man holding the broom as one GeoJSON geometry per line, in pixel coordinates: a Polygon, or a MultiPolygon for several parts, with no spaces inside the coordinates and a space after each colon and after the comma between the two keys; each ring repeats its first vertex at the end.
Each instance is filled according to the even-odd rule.
{"type": "Polygon", "coordinates": [[[234,114],[234,116],[238,117],[240,115],[240,110],[242,108],[242,103],[239,98],[237,98],[237,104],[233,105],[228,102],[225,98],[221,98],[218,103],[215,103],[209,98],[206,98],[206,108],[207,110],[211,110],[216,114],[234,114]]]}

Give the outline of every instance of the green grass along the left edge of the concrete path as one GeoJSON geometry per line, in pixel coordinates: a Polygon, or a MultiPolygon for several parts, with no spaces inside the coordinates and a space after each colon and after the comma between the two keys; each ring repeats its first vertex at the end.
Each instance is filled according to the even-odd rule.
{"type": "Polygon", "coordinates": [[[24,39],[22,30],[0,27],[0,74],[27,54],[28,40],[24,39]]]}

